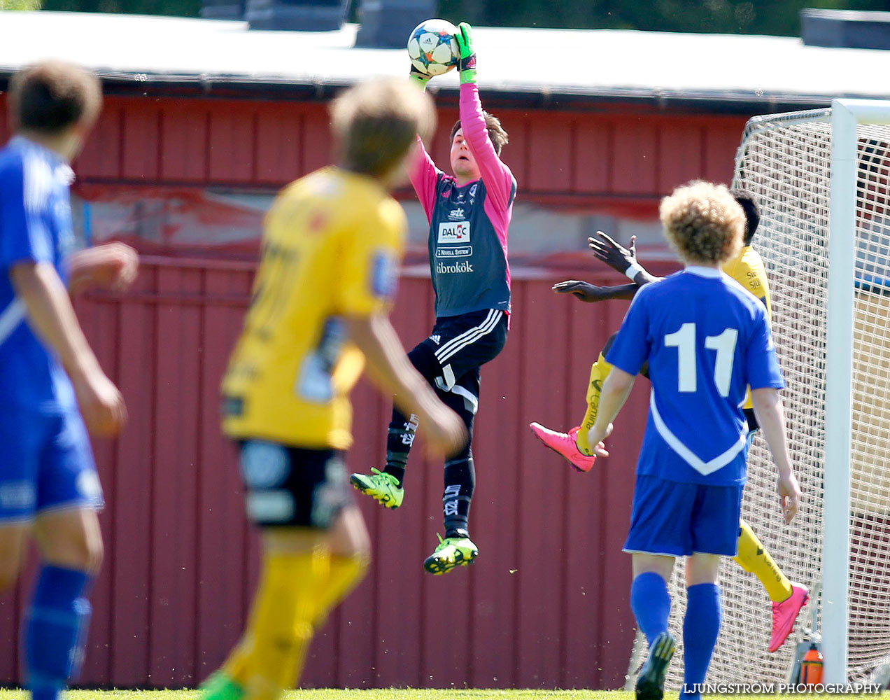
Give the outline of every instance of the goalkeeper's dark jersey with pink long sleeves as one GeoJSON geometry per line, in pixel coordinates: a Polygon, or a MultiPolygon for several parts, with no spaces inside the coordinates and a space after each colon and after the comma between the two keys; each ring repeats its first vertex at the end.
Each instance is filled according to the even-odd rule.
{"type": "Polygon", "coordinates": [[[498,158],[482,115],[479,88],[460,86],[460,124],[479,166],[479,180],[457,185],[422,151],[411,184],[430,222],[430,272],[436,318],[482,309],[510,313],[507,229],[513,216],[516,181],[498,158]]]}

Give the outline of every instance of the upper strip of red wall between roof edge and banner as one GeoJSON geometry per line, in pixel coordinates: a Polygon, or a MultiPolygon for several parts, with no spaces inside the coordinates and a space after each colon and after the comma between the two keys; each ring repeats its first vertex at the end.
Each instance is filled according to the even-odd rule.
{"type": "MultiPolygon", "coordinates": [[[[727,181],[745,124],[714,115],[496,111],[510,133],[504,157],[520,197],[647,214],[678,183],[727,181]]],[[[457,110],[440,110],[431,151],[441,163],[455,118],[457,110]]],[[[329,159],[323,104],[108,98],[76,169],[88,182],[277,187],[329,159]]]]}

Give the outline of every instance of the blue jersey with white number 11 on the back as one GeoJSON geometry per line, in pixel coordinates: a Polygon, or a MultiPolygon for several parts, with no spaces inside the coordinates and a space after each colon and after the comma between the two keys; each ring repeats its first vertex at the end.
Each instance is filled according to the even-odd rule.
{"type": "Polygon", "coordinates": [[[744,484],[747,387],[782,388],[766,310],[719,270],[689,267],[637,292],[606,359],[649,362],[649,420],[637,474],[744,484]]]}

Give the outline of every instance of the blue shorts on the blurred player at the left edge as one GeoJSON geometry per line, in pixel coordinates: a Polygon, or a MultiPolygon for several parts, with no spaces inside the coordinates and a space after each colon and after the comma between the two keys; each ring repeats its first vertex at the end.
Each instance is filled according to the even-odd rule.
{"type": "Polygon", "coordinates": [[[0,525],[103,505],[93,449],[77,411],[0,412],[0,525]]]}

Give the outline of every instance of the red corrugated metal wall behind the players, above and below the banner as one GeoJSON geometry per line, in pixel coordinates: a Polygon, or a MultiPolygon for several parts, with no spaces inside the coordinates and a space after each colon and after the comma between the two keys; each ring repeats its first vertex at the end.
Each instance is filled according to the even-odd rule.
{"type": "MultiPolygon", "coordinates": [[[[498,112],[522,199],[649,216],[676,183],[728,178],[744,123],[498,112]]],[[[443,113],[443,124],[454,116],[443,113]]],[[[433,145],[443,160],[444,133],[433,145]]],[[[319,104],[110,98],[77,171],[87,183],[272,188],[327,161],[319,104]]],[[[86,684],[192,686],[220,663],[244,622],[257,548],[234,455],[219,433],[217,388],[251,269],[146,259],[125,297],[78,304],[131,415],[118,440],[96,445],[109,502],[101,516],[107,556],[93,596],[86,684]]],[[[574,474],[533,439],[530,420],[570,427],[579,419],[590,362],[625,308],[556,297],[551,282],[514,281],[511,337],[483,372],[477,563],[447,576],[423,573],[441,527],[441,464],[424,460],[418,444],[403,508],[361,502],[374,564],[320,632],[305,685],[622,684],[633,618],[620,546],[645,395],[635,391],[614,456],[591,474],[574,474]]],[[[404,280],[393,319],[407,346],[429,332],[431,310],[429,281],[404,280]]],[[[367,469],[383,456],[390,404],[365,385],[354,403],[350,467],[367,469]]],[[[0,639],[16,639],[29,580],[0,598],[0,639]]],[[[13,682],[18,657],[12,644],[5,649],[0,682],[13,682]]]]}

